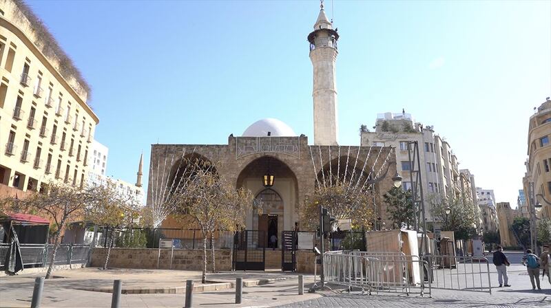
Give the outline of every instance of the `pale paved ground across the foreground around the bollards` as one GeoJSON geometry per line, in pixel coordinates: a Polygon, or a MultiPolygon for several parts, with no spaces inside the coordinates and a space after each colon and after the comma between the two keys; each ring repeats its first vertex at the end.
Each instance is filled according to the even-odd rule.
{"type": "MultiPolygon", "coordinates": [[[[362,295],[336,290],[298,295],[298,275],[281,272],[222,272],[209,274],[211,283],[222,289],[194,294],[194,307],[551,307],[551,286],[542,281],[542,290],[532,290],[526,268],[520,265],[521,253],[507,253],[509,283],[512,287],[494,287],[492,294],[473,291],[433,289],[428,294],[373,293],[362,295]],[[228,283],[243,277],[243,301],[234,304],[235,289],[228,283]],[[249,285],[249,286],[247,286],[249,285]]],[[[489,258],[491,262],[491,257],[489,258]]],[[[183,307],[184,286],[187,279],[200,285],[200,272],[175,270],[101,271],[96,268],[62,270],[45,281],[43,307],[110,307],[112,283],[123,280],[121,307],[183,307]],[[95,291],[92,291],[94,289],[95,291]],[[148,293],[149,292],[149,293],[148,293]]],[[[43,274],[21,274],[0,278],[0,307],[30,307],[34,278],[43,274]]],[[[492,285],[497,285],[495,266],[490,265],[492,285]]],[[[313,276],[306,275],[306,285],[313,276]]]]}

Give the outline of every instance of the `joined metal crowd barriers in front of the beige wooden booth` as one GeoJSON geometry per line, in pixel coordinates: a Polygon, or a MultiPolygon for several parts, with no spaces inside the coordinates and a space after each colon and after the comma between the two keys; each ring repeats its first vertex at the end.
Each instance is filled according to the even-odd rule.
{"type": "Polygon", "coordinates": [[[417,256],[392,252],[336,251],[324,254],[326,283],[344,285],[349,289],[359,287],[362,294],[367,289],[368,294],[375,291],[424,296],[428,284],[428,295],[432,296],[430,272],[426,283],[424,267],[428,268],[427,261],[419,260],[417,256]],[[416,272],[414,267],[419,268],[418,281],[412,274],[416,272]]]}

